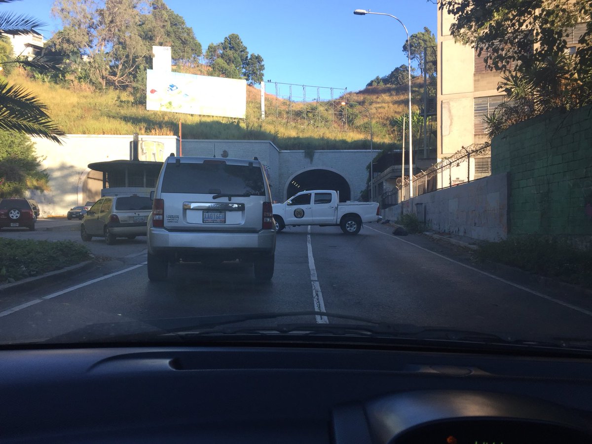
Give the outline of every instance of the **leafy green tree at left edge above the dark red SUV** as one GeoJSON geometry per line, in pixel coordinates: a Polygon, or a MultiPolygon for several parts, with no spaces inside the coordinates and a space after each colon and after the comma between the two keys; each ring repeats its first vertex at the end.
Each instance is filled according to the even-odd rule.
{"type": "Polygon", "coordinates": [[[27,189],[47,191],[49,175],[40,166],[27,134],[0,130],[0,197],[22,196],[27,189]]]}

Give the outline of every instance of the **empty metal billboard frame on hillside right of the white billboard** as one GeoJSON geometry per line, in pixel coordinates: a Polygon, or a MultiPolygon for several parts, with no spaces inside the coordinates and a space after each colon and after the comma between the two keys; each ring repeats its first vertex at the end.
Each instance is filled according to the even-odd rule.
{"type": "Polygon", "coordinates": [[[348,88],[265,82],[265,114],[301,126],[348,129],[348,88]]]}

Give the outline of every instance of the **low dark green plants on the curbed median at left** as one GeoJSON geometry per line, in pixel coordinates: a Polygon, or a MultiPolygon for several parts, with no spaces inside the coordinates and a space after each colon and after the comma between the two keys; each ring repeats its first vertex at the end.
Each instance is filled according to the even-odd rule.
{"type": "Polygon", "coordinates": [[[19,240],[0,237],[0,284],[42,275],[92,258],[72,240],[19,240]]]}

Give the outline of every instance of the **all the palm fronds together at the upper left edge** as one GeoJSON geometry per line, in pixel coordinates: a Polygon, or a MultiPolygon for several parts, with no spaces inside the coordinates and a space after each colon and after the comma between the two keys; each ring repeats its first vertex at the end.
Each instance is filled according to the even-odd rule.
{"type": "MultiPolygon", "coordinates": [[[[10,1],[10,0],[8,0],[10,1]]],[[[8,35],[26,35],[37,33],[35,28],[43,26],[43,22],[34,18],[14,14],[0,14],[0,32],[8,35]]],[[[42,57],[31,60],[8,60],[2,63],[19,63],[36,69],[59,69],[57,65],[42,57]]],[[[29,136],[40,136],[62,143],[59,136],[63,131],[47,114],[47,105],[37,96],[18,85],[9,85],[0,79],[0,130],[16,131],[29,136]]]]}

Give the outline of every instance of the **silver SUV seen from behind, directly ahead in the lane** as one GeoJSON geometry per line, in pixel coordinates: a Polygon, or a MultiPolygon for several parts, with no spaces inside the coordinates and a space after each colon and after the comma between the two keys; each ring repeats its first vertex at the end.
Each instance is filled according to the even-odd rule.
{"type": "Polygon", "coordinates": [[[173,157],[163,163],[148,221],[148,278],[169,262],[253,262],[255,278],[274,275],[271,192],[257,160],[173,157]]]}

